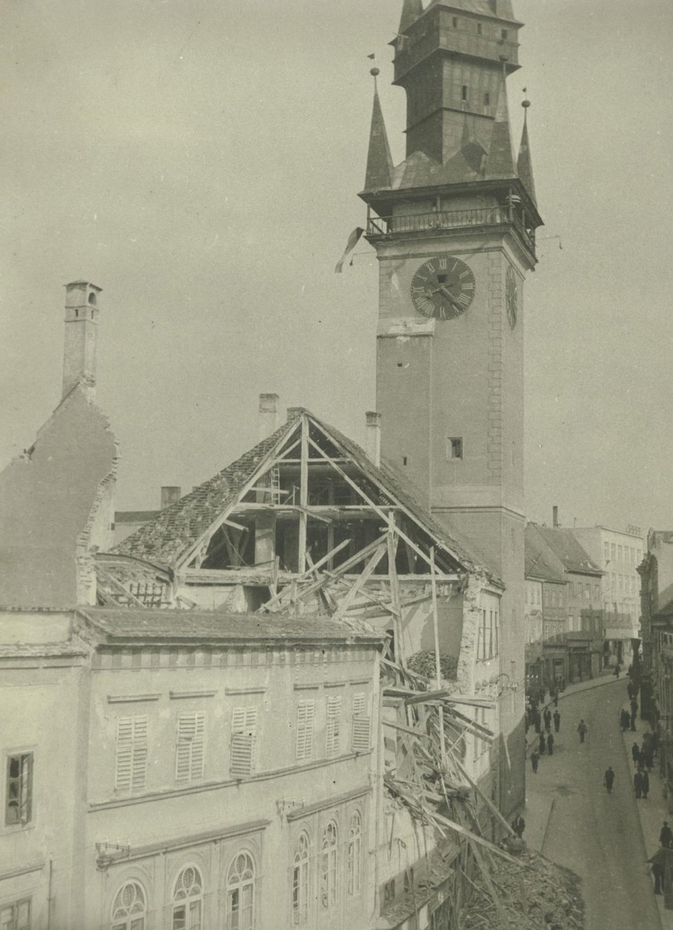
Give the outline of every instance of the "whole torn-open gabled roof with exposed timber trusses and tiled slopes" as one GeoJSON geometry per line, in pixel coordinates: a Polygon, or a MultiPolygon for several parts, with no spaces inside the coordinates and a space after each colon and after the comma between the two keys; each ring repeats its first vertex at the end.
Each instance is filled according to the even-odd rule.
{"type": "MultiPolygon", "coordinates": [[[[458,578],[485,569],[438,525],[403,479],[377,467],[361,446],[296,408],[280,429],[162,511],[113,553],[192,570],[236,572],[260,583],[304,575],[317,565],[336,569],[395,528],[402,576],[437,570],[458,578]]],[[[376,549],[376,547],[375,547],[376,549]]],[[[388,574],[386,552],[372,569],[388,574]]],[[[497,579],[491,580],[497,583],[497,579]]]]}

